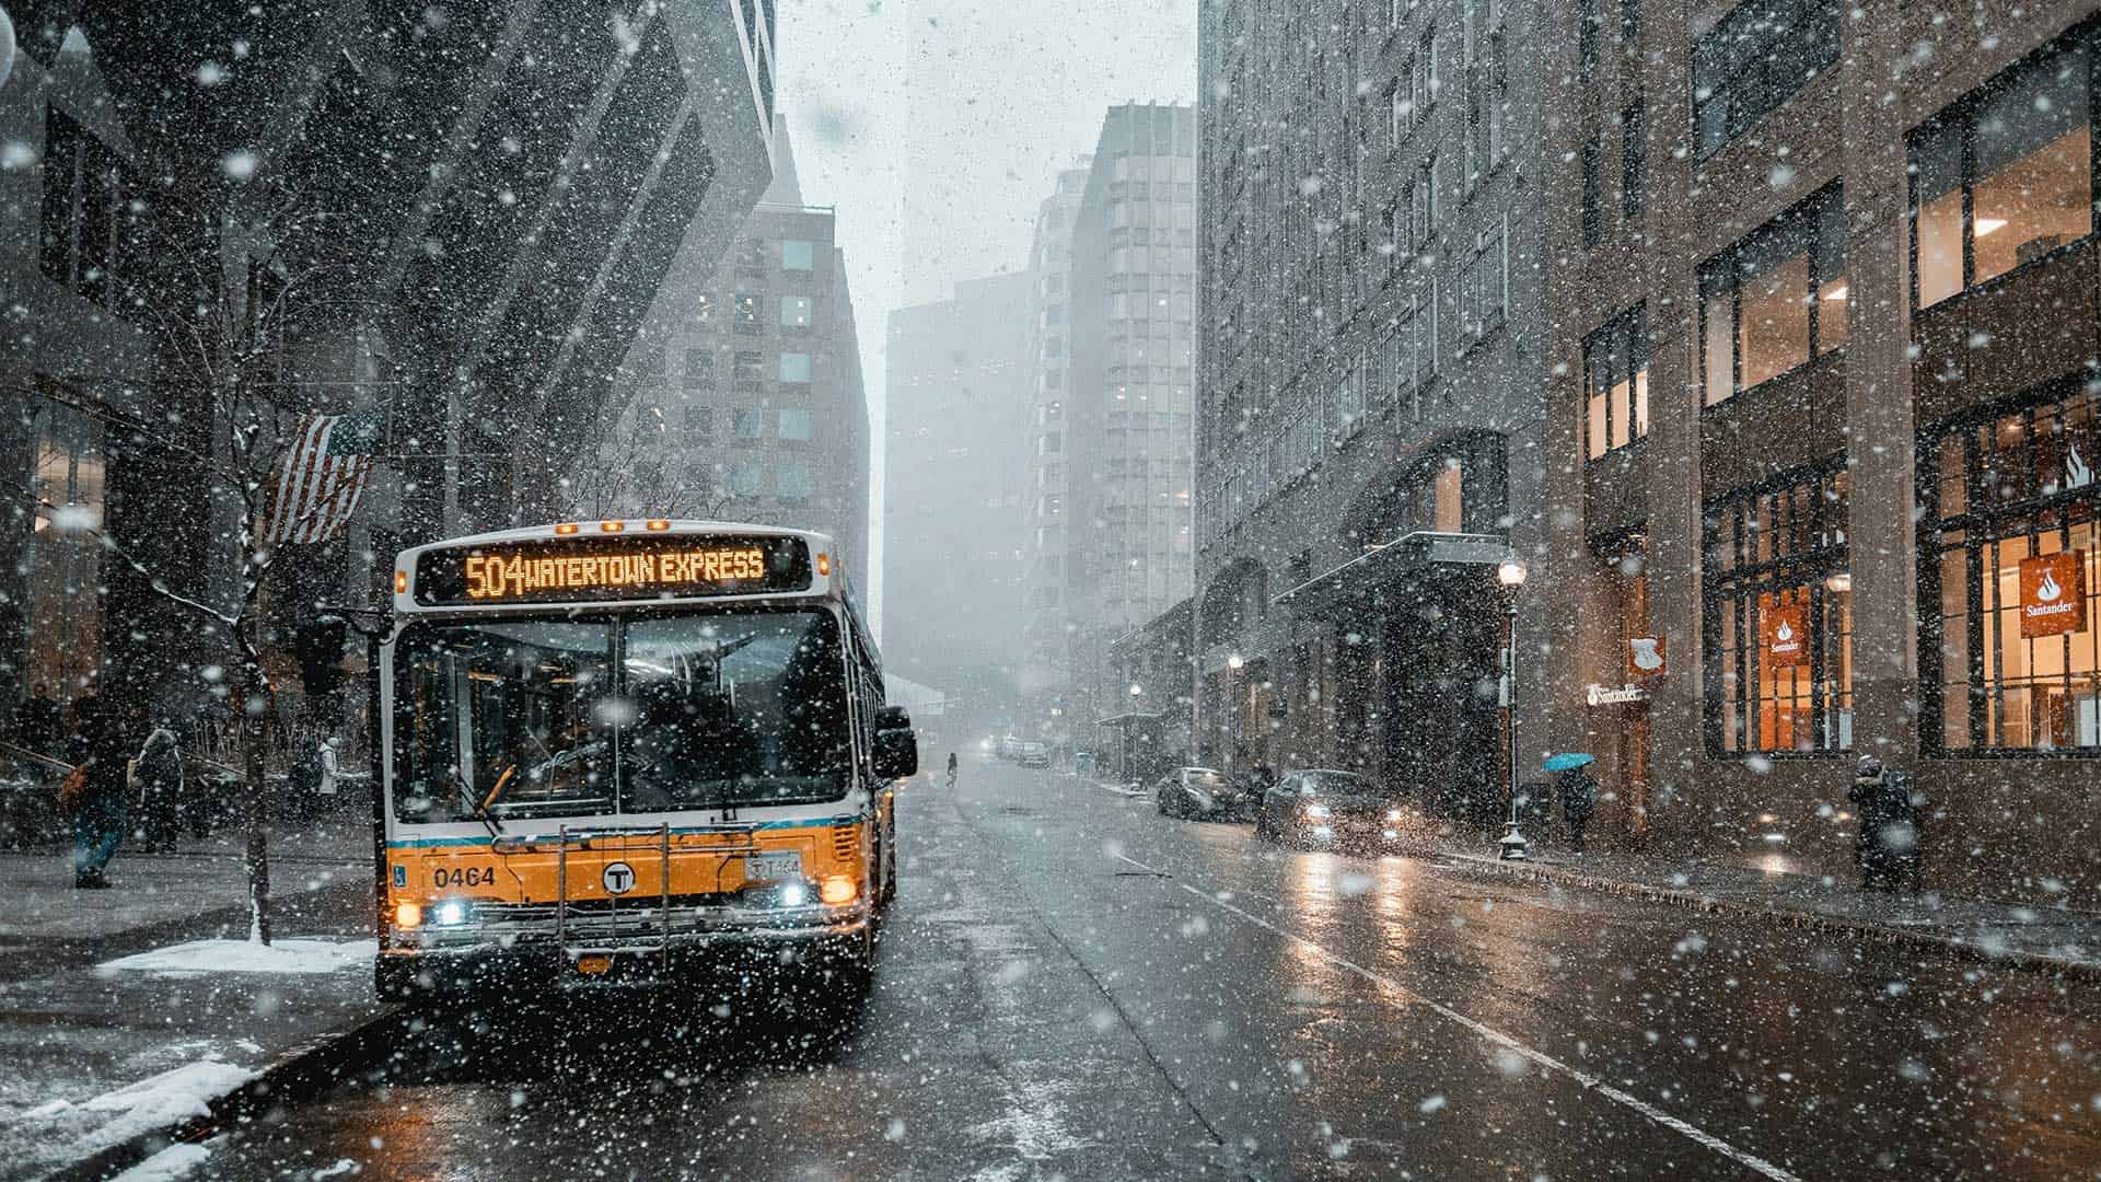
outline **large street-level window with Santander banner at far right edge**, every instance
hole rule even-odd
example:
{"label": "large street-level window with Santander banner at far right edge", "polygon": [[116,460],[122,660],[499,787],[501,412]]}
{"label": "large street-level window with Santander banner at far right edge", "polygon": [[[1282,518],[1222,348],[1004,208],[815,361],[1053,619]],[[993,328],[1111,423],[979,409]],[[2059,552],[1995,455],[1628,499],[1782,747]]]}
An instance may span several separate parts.
{"label": "large street-level window with Santander banner at far right edge", "polygon": [[1920,440],[1929,751],[2101,755],[2097,454],[2101,400],[2076,385]]}

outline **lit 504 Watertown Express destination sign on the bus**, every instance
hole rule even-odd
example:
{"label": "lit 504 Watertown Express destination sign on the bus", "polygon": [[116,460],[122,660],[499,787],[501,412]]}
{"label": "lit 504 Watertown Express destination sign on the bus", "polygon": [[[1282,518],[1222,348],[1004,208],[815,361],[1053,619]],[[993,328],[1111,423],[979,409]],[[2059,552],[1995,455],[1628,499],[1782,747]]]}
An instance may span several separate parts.
{"label": "lit 504 Watertown Express destination sign on the bus", "polygon": [[534,538],[416,559],[424,606],[761,595],[809,583],[803,538],[769,536]]}

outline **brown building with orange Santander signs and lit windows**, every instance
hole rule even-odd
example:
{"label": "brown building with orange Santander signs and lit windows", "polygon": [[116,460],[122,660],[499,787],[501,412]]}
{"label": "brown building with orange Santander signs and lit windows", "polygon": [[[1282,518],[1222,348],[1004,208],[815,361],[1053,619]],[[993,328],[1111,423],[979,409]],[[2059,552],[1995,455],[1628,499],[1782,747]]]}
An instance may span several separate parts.
{"label": "brown building with orange Santander signs and lit windows", "polygon": [[1874,755],[1929,888],[2101,904],[2088,13],[1548,6],[1534,635],[1595,829],[1849,875]]}

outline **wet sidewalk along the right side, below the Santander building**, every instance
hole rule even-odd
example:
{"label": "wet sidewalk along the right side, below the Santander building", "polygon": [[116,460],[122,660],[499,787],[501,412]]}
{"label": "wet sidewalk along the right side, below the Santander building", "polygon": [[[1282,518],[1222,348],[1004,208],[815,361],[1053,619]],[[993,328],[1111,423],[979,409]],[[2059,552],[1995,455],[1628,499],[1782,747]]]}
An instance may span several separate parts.
{"label": "wet sidewalk along the right side, below the Santander building", "polygon": [[1605,890],[1700,911],[1754,913],[1805,928],[1847,930],[1929,944],[1985,961],[2101,978],[2101,915],[1975,898],[1885,894],[1819,875],[1756,871],[1721,862],[1664,862],[1628,854],[1532,848],[1527,862],[1492,850],[1435,841],[1462,867],[1555,885]]}

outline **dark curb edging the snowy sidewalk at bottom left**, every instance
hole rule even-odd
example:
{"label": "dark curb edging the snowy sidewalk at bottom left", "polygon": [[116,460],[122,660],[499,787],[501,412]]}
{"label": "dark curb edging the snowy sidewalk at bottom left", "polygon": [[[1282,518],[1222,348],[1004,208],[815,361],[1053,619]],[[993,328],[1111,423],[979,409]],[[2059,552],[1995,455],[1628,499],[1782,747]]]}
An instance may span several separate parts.
{"label": "dark curb edging the snowy sidewalk at bottom left", "polygon": [[103,1182],[155,1153],[195,1144],[244,1125],[279,1104],[298,1104],[382,1062],[401,1045],[408,1014],[389,1007],[345,1022],[277,1054],[254,1079],[210,1102],[210,1113],[143,1132],[46,1174],[40,1182]]}

